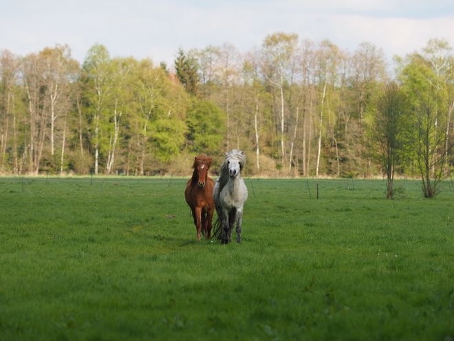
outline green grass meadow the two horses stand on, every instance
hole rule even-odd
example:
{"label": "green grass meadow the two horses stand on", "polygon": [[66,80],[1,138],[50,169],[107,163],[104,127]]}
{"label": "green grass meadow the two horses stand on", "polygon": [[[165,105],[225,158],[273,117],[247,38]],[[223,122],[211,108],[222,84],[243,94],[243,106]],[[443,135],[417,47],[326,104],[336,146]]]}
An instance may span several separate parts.
{"label": "green grass meadow the two horses stand on", "polygon": [[0,178],[0,340],[454,340],[450,183],[246,179],[221,245],[186,180]]}

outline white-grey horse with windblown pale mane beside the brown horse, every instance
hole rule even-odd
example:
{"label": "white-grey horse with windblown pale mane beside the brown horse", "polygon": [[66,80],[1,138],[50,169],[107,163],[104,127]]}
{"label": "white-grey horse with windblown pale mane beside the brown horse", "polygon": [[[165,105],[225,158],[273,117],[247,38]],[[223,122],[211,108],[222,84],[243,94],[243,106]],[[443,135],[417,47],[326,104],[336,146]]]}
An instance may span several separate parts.
{"label": "white-grey horse with windblown pale mane beside the brown horse", "polygon": [[241,170],[246,164],[246,155],[238,149],[226,152],[224,163],[219,168],[213,200],[215,202],[217,220],[215,234],[222,244],[232,242],[232,231],[237,223],[237,243],[241,243],[241,220],[243,205],[248,198],[248,188],[241,178]]}

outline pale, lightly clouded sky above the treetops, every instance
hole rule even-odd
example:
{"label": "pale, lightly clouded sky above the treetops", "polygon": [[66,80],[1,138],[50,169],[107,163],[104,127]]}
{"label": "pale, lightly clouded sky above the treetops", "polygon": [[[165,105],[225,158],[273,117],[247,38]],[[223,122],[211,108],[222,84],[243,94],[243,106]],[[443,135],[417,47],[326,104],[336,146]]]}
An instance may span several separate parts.
{"label": "pale, lightly clouded sky above the treetops", "polygon": [[67,44],[83,63],[94,44],[112,57],[173,65],[177,50],[231,43],[244,53],[268,34],[329,39],[354,52],[373,43],[391,61],[445,39],[454,48],[453,0],[1,0],[0,52]]}

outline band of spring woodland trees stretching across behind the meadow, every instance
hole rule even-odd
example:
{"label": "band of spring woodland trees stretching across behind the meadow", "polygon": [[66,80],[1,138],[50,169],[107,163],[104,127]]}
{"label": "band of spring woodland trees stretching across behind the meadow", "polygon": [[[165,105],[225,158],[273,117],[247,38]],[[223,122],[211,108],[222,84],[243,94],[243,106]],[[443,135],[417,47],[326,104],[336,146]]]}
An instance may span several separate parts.
{"label": "band of spring woodland trees stretching across behind the meadow", "polygon": [[441,179],[454,159],[454,55],[443,39],[389,62],[373,43],[269,34],[175,52],[173,65],[68,45],[0,50],[1,174],[188,174],[242,149],[248,176]]}

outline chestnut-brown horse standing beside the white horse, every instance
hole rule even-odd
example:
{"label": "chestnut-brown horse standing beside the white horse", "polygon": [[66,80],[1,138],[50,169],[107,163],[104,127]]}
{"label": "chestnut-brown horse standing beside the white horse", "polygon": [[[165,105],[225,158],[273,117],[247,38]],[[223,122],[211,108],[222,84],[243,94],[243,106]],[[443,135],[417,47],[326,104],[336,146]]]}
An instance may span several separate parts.
{"label": "chestnut-brown horse standing beside the white horse", "polygon": [[215,211],[213,202],[213,188],[215,182],[208,176],[212,158],[199,155],[195,156],[193,164],[193,177],[188,180],[184,197],[186,203],[193,212],[194,224],[197,229],[197,240],[200,240],[200,232],[206,239],[211,238],[211,221]]}

